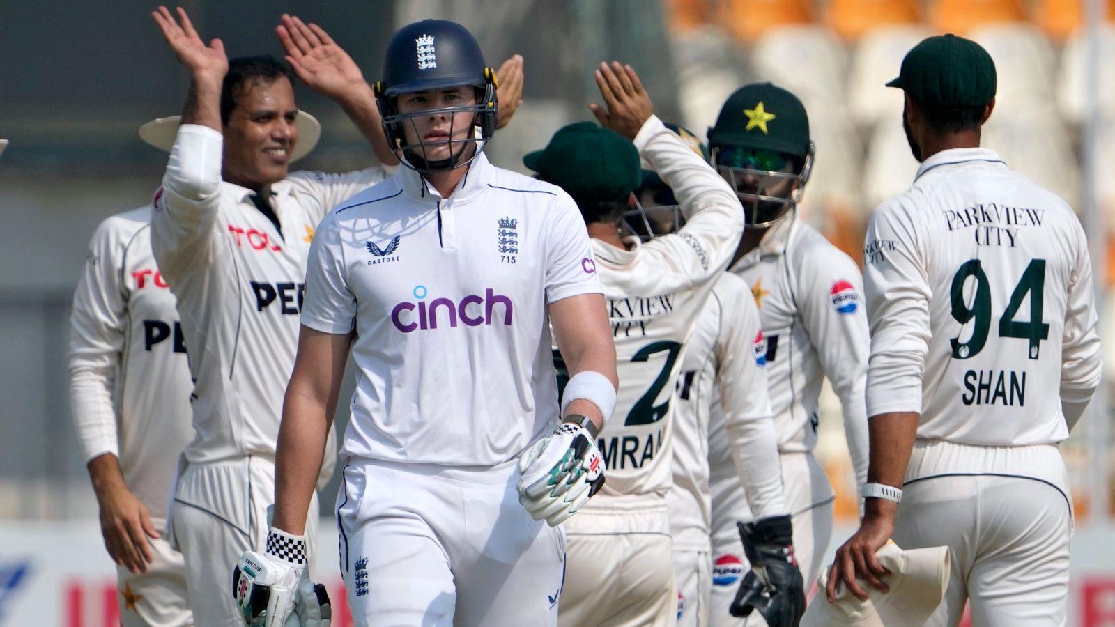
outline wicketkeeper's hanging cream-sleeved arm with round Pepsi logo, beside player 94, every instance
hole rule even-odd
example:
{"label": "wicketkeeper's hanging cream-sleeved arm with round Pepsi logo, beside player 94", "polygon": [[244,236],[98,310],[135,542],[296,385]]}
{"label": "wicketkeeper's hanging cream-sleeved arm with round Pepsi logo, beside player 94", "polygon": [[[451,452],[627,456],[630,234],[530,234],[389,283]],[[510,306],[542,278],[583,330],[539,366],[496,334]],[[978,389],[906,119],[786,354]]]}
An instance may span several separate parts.
{"label": "wicketkeeper's hanging cream-sleeved arm with round Pepsi logo, beside player 94", "polygon": [[[832,383],[844,414],[844,436],[856,484],[867,480],[867,356],[871,337],[862,301],[863,279],[846,254],[834,247],[808,251],[798,267],[804,289],[797,290],[802,322],[816,347],[821,367]],[[849,287],[850,286],[850,287]],[[833,293],[833,290],[837,290]],[[841,300],[834,302],[834,297]]]}

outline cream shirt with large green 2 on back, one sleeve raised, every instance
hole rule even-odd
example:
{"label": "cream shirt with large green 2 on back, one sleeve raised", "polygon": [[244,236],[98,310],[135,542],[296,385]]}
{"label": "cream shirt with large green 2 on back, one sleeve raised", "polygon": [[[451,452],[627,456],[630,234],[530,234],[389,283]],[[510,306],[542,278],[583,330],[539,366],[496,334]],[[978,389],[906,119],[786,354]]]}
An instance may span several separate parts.
{"label": "cream shirt with large green 2 on back, one sleeve raised", "polygon": [[665,498],[669,490],[671,406],[681,349],[744,225],[739,200],[728,184],[658,117],[643,124],[634,144],[689,219],[678,233],[633,250],[592,240],[620,387],[615,413],[597,443],[607,480],[582,511],[607,505],[611,495]]}

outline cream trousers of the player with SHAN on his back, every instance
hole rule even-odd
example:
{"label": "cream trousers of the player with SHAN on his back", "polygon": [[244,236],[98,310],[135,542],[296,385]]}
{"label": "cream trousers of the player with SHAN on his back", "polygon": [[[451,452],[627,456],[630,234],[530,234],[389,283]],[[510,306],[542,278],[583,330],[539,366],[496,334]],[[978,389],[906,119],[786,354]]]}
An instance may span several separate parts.
{"label": "cream trousers of the player with SHAN on his back", "polygon": [[956,626],[964,601],[980,627],[1064,626],[1073,512],[1055,445],[973,446],[919,440],[894,541],[948,546],[949,588],[930,627]]}

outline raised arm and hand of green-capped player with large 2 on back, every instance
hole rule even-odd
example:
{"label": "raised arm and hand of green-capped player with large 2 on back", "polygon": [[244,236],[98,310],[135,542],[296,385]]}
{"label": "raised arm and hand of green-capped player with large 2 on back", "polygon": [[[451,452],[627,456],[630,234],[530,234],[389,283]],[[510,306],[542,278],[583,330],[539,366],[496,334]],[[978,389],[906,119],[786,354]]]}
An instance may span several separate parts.
{"label": "raised arm and hand of green-capped player with large 2 on back", "polygon": [[668,262],[692,282],[724,270],[739,243],[744,213],[728,183],[653,115],[631,66],[613,61],[595,70],[604,106],[590,105],[607,126],[634,142],[639,154],[673,191],[687,216],[679,238],[665,238],[673,253]]}

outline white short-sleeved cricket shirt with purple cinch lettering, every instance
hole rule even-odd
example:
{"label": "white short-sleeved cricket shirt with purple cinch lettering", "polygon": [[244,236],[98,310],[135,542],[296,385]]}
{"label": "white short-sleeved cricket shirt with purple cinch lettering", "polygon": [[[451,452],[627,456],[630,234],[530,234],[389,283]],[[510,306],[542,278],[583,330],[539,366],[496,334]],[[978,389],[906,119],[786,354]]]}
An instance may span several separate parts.
{"label": "white short-sleeved cricket shirt with purple cinch lettering", "polygon": [[356,331],[346,455],[449,466],[514,460],[558,425],[547,303],[600,293],[560,189],[481,153],[447,199],[414,171],[321,222],[302,324]]}

